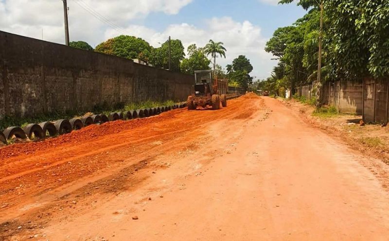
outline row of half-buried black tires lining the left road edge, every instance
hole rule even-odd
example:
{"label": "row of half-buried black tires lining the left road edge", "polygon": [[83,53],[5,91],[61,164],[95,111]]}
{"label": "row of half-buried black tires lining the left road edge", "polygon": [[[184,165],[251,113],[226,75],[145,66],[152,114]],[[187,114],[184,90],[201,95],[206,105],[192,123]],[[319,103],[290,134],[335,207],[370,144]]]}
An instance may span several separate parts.
{"label": "row of half-buried black tires lining the left road edge", "polygon": [[108,116],[105,114],[95,114],[87,117],[72,118],[70,120],[57,120],[55,122],[42,122],[39,124],[28,124],[23,129],[20,127],[8,127],[0,131],[0,142],[7,144],[8,140],[14,137],[19,139],[44,139],[47,136],[53,137],[70,133],[72,130],[80,130],[92,124],[103,124],[109,121],[130,120],[136,118],[149,117],[161,112],[170,111],[177,108],[185,108],[186,103],[181,102],[172,106],[162,106],[149,109],[132,110],[124,112],[112,112]]}

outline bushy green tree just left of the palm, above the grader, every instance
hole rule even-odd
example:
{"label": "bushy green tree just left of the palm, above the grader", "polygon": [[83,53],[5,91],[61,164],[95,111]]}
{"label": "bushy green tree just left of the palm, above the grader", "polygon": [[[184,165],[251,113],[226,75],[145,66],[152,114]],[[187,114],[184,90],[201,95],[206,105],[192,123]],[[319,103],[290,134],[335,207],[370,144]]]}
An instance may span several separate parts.
{"label": "bushy green tree just left of the palm, above the grader", "polygon": [[211,61],[205,56],[204,50],[195,44],[188,46],[189,58],[182,60],[180,69],[185,74],[195,74],[196,70],[209,70]]}

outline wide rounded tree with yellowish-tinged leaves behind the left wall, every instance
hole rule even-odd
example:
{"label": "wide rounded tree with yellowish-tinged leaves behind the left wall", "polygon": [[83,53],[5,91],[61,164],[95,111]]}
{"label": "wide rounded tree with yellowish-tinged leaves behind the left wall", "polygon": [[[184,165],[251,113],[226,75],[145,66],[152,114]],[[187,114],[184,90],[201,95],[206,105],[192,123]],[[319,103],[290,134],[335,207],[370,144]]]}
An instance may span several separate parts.
{"label": "wide rounded tree with yellowish-tinged leaves behind the left wall", "polygon": [[100,43],[95,51],[128,59],[147,60],[152,49],[153,47],[148,42],[139,37],[121,35]]}

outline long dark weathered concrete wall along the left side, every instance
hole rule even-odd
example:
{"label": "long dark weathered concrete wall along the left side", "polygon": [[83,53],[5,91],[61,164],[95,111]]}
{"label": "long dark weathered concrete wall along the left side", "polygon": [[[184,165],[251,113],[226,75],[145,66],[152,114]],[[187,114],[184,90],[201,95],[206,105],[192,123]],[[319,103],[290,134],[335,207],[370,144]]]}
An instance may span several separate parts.
{"label": "long dark weathered concrete wall along the left side", "polygon": [[0,119],[186,100],[194,76],[0,31]]}

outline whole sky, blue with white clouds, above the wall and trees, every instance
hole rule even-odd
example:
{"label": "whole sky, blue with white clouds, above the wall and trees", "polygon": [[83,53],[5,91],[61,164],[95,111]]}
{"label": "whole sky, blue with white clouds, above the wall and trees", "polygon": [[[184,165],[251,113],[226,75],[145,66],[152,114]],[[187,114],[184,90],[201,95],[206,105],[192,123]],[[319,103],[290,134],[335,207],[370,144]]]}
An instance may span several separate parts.
{"label": "whole sky, blue with white clouds, above the wall and trees", "polygon": [[[223,67],[246,55],[254,67],[251,75],[266,78],[276,65],[264,51],[266,41],[278,27],[305,14],[294,3],[277,5],[277,1],[68,0],[70,37],[96,46],[127,34],[157,47],[171,36],[181,39],[185,48],[193,43],[201,47],[213,39],[227,48],[227,58],[217,59]],[[62,11],[60,0],[0,0],[0,30],[64,43]]]}

